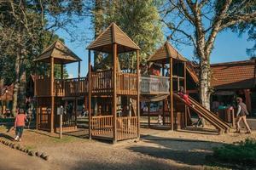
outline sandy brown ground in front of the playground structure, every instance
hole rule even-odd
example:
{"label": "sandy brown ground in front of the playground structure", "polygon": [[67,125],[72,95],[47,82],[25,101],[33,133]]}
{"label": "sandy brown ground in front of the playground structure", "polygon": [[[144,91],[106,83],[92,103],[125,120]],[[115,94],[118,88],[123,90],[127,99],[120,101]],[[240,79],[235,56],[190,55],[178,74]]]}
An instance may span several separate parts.
{"label": "sandy brown ground in front of the playground structure", "polygon": [[[0,132],[2,139],[14,136],[4,127]],[[172,132],[142,128],[138,142],[108,144],[89,140],[86,133],[79,129],[60,140],[55,133],[25,130],[20,144],[44,151],[50,156],[49,161],[0,144],[0,169],[204,169],[210,166],[205,156],[212,154],[212,147],[248,137],[256,139],[256,132],[216,135],[190,129]]]}

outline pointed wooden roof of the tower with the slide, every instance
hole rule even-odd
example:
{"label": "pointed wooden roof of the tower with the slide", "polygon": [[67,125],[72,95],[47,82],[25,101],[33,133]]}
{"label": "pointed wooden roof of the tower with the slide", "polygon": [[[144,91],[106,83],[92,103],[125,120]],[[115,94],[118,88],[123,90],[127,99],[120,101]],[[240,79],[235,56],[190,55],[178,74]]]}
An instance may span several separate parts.
{"label": "pointed wooden roof of the tower with the slide", "polygon": [[169,63],[169,58],[187,61],[182,54],[177,52],[177,49],[173,48],[172,45],[166,41],[162,47],[157,49],[156,52],[149,57],[148,62],[167,64]]}

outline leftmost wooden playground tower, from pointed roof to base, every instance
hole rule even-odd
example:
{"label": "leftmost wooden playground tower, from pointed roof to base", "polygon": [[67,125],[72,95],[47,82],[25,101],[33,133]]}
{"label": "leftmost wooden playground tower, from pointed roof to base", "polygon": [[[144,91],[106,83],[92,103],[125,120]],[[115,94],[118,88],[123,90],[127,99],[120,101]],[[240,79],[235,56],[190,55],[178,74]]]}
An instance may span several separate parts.
{"label": "leftmost wooden playground tower, from pointed roof to base", "polygon": [[[73,97],[73,105],[69,107],[70,111],[67,111],[67,114],[63,116],[63,130],[74,130],[76,128],[76,115],[74,114],[76,98],[83,95],[83,93],[78,94],[77,92],[87,84],[84,79],[80,78],[81,59],[62,42],[56,41],[34,61],[36,65],[42,66],[42,62],[49,64],[49,71],[38,71],[35,75],[34,95],[37,99],[37,128],[49,132],[58,131],[57,107],[67,105],[64,97]],[[73,62],[79,63],[79,77],[65,80],[63,65]],[[59,78],[55,77],[55,65],[61,65],[61,77]],[[74,90],[74,88],[76,89]]]}

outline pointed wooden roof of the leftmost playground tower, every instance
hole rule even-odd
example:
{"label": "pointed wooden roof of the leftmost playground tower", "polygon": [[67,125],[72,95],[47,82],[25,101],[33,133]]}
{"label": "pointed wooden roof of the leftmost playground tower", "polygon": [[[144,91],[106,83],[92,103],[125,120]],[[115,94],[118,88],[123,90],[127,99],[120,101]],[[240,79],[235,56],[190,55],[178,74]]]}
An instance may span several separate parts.
{"label": "pointed wooden roof of the leftmost playground tower", "polygon": [[49,63],[51,57],[55,58],[55,64],[67,64],[82,60],[59,40],[53,42],[48,48],[45,48],[43,53],[39,54],[38,58],[34,59],[34,61]]}

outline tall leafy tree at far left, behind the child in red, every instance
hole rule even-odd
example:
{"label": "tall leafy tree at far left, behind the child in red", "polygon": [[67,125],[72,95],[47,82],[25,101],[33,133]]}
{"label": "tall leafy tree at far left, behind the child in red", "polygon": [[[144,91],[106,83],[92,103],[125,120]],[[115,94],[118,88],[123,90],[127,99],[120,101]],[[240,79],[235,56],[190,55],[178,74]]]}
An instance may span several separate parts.
{"label": "tall leafy tree at far left, behind the child in red", "polygon": [[0,2],[1,56],[5,59],[11,56],[15,64],[13,115],[17,101],[20,106],[25,104],[26,75],[34,71],[32,60],[44,49],[44,38],[50,33],[51,42],[58,29],[67,31],[75,38],[75,22],[89,15],[89,3],[83,0]]}

